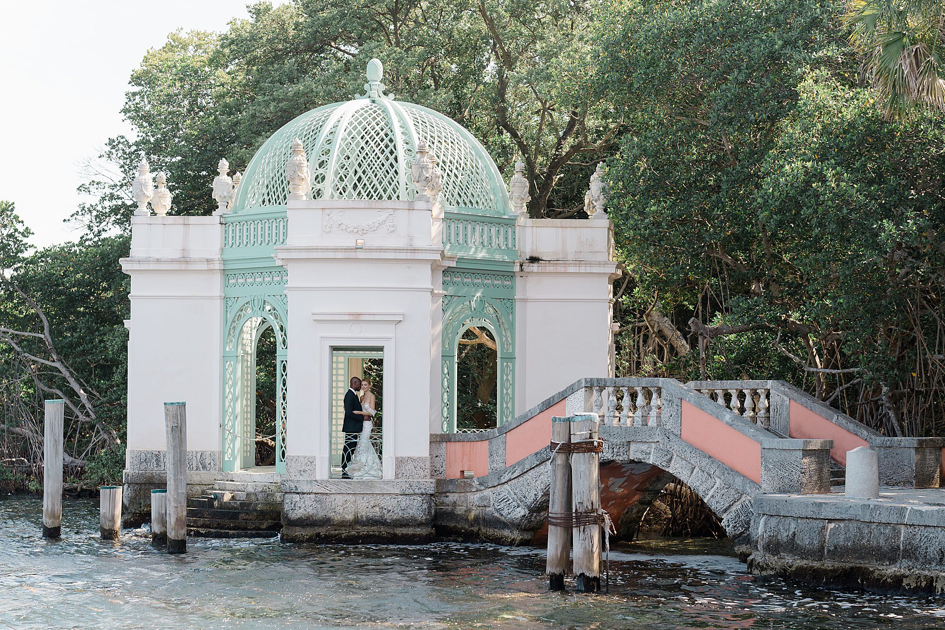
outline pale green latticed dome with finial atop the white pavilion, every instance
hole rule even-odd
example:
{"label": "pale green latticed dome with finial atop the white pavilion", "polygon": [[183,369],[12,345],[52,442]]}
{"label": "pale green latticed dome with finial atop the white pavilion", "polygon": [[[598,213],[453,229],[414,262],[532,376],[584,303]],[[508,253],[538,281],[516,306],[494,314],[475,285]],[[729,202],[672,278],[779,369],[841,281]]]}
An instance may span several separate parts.
{"label": "pale green latticed dome with finial atop the white pavilion", "polygon": [[505,181],[483,145],[438,111],[384,94],[382,74],[381,62],[370,60],[366,94],[303,113],[272,134],[249,161],[232,212],[284,208],[285,162],[299,138],[308,156],[310,198],[412,200],[417,190],[410,165],[423,140],[439,160],[444,208],[508,214]]}

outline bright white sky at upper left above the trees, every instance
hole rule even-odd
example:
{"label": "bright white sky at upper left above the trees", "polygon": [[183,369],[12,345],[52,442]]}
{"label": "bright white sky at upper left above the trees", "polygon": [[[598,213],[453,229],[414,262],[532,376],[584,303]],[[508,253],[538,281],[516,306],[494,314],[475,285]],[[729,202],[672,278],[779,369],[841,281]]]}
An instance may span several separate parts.
{"label": "bright white sky at upper left above the trees", "polygon": [[[224,30],[249,0],[30,0],[0,19],[0,199],[43,247],[74,240],[81,162],[128,134],[128,78],[167,33]],[[281,4],[275,2],[274,4]]]}

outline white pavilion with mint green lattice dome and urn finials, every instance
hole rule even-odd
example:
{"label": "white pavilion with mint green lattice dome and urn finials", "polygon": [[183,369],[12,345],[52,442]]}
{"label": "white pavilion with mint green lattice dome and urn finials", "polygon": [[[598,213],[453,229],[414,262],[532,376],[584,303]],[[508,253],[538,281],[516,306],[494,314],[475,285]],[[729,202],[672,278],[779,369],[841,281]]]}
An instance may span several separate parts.
{"label": "white pavilion with mint green lattice dome and urn finials", "polygon": [[[206,216],[168,215],[163,176],[153,191],[142,164],[122,261],[127,522],[163,486],[165,401],[186,402],[189,493],[257,475],[281,485],[286,522],[316,527],[319,510],[343,509],[328,498],[357,501],[368,487],[337,478],[352,376],[381,375],[383,474],[370,487],[402,498],[433,492],[432,434],[501,427],[577,379],[613,376],[619,271],[599,173],[590,219],[529,218],[521,167],[507,186],[469,131],[385,94],[382,72],[371,60],[364,94],[302,113],[245,173],[231,178],[222,161]],[[457,409],[458,349],[473,327],[495,346],[488,426]],[[267,466],[264,334],[276,383]]]}

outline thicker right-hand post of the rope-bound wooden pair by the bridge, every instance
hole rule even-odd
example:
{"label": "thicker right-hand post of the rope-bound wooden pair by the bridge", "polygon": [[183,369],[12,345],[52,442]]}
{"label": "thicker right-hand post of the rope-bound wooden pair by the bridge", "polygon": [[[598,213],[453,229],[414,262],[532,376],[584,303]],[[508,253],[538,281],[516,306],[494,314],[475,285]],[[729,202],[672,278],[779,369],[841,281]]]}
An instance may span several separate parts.
{"label": "thicker right-hand post of the rope-bound wooden pair by the bridge", "polygon": [[[595,593],[600,590],[600,453],[593,449],[597,440],[597,416],[571,417],[571,483],[574,494],[575,589]],[[584,442],[576,447],[576,442]]]}

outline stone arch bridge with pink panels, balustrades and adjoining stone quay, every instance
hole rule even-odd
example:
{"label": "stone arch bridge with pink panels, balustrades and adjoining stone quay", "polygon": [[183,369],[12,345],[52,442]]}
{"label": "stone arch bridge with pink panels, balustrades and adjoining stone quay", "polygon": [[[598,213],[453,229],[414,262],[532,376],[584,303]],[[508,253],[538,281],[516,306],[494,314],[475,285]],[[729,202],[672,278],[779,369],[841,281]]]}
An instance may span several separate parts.
{"label": "stone arch bridge with pink panels, balustrades and adjoining stone quay", "polygon": [[[945,545],[945,440],[885,437],[780,381],[583,379],[498,429],[435,435],[438,532],[540,541],[551,417],[588,412],[604,441],[602,503],[624,534],[673,475],[721,519],[753,572],[945,589],[942,560],[928,551]],[[879,499],[837,487],[858,446],[878,453]]]}

